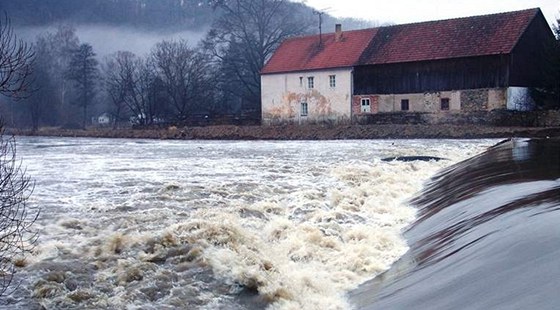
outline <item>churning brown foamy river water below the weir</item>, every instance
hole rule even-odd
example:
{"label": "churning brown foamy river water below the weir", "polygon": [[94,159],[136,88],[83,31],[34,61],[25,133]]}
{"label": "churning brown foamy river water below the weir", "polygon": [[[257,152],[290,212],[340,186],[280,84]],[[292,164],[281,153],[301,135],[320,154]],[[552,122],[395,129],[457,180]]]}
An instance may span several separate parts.
{"label": "churning brown foamy river water below the weir", "polygon": [[21,137],[40,240],[0,308],[351,308],[407,252],[407,199],[496,142]]}

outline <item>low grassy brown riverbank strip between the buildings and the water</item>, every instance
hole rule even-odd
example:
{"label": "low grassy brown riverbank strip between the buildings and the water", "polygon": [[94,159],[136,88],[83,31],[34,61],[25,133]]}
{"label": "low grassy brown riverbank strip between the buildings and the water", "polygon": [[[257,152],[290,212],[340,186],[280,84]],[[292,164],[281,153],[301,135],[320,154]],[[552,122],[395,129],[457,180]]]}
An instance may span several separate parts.
{"label": "low grassy brown riverbank strip between the buildings and the water", "polygon": [[10,130],[24,136],[143,138],[182,140],[341,140],[341,139],[480,139],[559,137],[560,127],[496,127],[476,125],[279,125],[206,126],[158,129],[41,128]]}

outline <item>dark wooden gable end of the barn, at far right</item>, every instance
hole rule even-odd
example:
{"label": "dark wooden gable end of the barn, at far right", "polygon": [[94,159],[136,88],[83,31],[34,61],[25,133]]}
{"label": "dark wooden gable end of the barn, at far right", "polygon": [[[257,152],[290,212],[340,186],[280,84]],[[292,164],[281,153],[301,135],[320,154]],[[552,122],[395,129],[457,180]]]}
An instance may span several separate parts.
{"label": "dark wooden gable end of the barn, at far right", "polygon": [[510,86],[537,87],[543,85],[543,72],[546,72],[550,45],[554,35],[542,16],[533,19],[511,57]]}

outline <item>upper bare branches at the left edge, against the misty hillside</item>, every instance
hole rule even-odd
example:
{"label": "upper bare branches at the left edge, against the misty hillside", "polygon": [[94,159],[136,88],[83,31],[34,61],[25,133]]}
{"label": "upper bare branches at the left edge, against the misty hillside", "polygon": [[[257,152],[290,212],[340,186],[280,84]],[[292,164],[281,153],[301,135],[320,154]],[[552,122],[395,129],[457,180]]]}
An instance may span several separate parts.
{"label": "upper bare branches at the left edge, against the misty hillside", "polygon": [[0,18],[0,94],[24,97],[29,94],[33,48],[19,40],[6,14]]}

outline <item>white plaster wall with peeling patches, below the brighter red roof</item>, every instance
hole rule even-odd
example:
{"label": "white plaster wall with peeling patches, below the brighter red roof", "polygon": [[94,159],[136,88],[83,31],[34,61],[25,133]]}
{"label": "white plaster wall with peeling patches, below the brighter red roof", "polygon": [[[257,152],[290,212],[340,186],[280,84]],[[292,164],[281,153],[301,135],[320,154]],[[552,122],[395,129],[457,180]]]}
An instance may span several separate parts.
{"label": "white plaster wall with peeling patches, below the brighter red roof", "polygon": [[[336,87],[329,76],[336,76]],[[314,88],[308,88],[308,77]],[[300,84],[302,78],[302,84]],[[352,70],[332,69],[261,76],[262,117],[272,122],[346,122],[351,118]],[[307,102],[308,115],[301,115],[301,103]]]}

